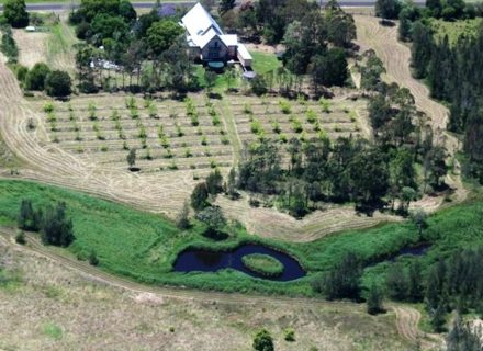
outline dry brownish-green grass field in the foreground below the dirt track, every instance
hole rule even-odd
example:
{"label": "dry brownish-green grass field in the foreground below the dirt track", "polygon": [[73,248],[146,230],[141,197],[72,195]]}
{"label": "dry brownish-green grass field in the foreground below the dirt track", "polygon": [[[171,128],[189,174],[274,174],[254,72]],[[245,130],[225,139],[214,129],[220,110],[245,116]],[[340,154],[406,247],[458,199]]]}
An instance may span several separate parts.
{"label": "dry brownish-green grass field in the foreground below the dirt track", "polygon": [[[2,350],[242,351],[260,328],[271,332],[277,351],[412,350],[397,333],[394,313],[374,318],[363,305],[132,292],[2,240],[0,257]],[[2,284],[2,269],[14,281]],[[295,331],[294,342],[283,339],[285,328]]]}

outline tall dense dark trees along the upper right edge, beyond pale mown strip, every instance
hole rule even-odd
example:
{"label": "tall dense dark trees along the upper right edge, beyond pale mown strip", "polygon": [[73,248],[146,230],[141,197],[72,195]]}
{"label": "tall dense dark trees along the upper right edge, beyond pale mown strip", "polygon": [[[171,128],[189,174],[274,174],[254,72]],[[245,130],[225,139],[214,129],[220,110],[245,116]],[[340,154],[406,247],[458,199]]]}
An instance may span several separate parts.
{"label": "tall dense dark trees along the upper right edge, beyond pale mown strip", "polygon": [[[392,0],[384,0],[394,2]],[[398,3],[398,2],[397,2]],[[448,129],[462,135],[463,173],[483,183],[483,24],[458,33],[439,33],[458,25],[443,21],[483,16],[482,4],[461,0],[429,0],[425,9],[411,4],[398,7],[400,38],[412,41],[412,67],[415,78],[424,79],[431,97],[450,106]],[[437,23],[438,25],[436,26]],[[464,29],[465,26],[463,26]],[[436,33],[435,33],[436,32]],[[448,35],[451,35],[450,36]]]}

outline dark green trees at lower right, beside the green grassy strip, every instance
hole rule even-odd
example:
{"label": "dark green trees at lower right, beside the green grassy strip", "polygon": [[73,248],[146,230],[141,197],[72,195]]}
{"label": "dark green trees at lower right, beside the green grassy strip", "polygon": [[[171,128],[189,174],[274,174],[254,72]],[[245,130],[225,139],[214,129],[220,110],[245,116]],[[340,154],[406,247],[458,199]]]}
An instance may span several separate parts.
{"label": "dark green trees at lower right, beside the green grassy strip", "polygon": [[[348,252],[324,276],[313,281],[313,288],[327,299],[366,299],[371,314],[384,312],[384,297],[406,303],[424,303],[430,324],[438,332],[446,330],[448,314],[453,310],[458,314],[473,312],[483,316],[482,248],[460,249],[427,269],[424,269],[419,259],[409,264],[392,263],[385,272],[383,283],[372,283],[363,297],[361,280],[367,264],[356,253]],[[456,327],[449,333],[451,343],[458,346],[462,342],[452,333],[461,333],[461,337],[464,335],[463,329],[461,320],[457,320]]]}

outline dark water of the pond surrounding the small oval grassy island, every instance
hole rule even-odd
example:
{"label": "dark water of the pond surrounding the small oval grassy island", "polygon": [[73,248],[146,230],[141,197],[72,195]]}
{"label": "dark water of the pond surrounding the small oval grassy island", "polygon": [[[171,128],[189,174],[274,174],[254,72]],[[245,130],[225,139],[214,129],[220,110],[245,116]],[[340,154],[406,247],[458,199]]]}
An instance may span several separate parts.
{"label": "dark water of the pond surrounding the small oval grassy island", "polygon": [[[282,274],[268,278],[247,269],[242,258],[251,253],[263,253],[279,260],[283,264]],[[293,281],[305,276],[303,268],[291,256],[255,244],[242,245],[231,251],[187,249],[178,256],[173,268],[176,272],[216,272],[229,268],[250,276],[279,282]]]}

